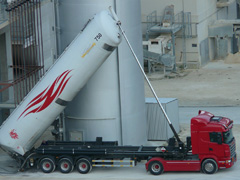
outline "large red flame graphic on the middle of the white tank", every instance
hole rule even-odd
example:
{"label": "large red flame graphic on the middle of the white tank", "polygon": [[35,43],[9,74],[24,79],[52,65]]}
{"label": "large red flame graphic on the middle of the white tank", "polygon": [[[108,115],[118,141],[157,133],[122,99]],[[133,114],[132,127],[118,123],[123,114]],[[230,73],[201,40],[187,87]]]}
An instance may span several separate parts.
{"label": "large red flame graphic on the middle of the white tank", "polygon": [[[28,103],[27,108],[25,109],[25,111],[23,111],[23,113],[19,116],[19,118],[22,117],[23,114],[25,114],[24,115],[24,117],[25,117],[28,114],[41,112],[44,109],[46,109],[54,101],[54,99],[56,99],[57,97],[60,96],[60,94],[64,90],[69,79],[72,77],[72,76],[70,76],[69,78],[67,78],[68,74],[71,71],[72,70],[67,70],[67,71],[63,72],[60,76],[58,76],[55,79],[55,81],[52,83],[52,85],[50,87],[48,86],[43,92],[41,92],[30,103]],[[38,104],[40,104],[38,107],[29,111],[33,106],[36,106]]]}

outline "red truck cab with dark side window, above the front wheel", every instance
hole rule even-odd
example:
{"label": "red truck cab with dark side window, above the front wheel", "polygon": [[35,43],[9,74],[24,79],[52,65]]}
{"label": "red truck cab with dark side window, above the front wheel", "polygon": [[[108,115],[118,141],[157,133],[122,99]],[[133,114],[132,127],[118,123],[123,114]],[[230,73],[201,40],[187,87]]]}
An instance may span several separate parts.
{"label": "red truck cab with dark side window, above the front wheel", "polygon": [[199,111],[191,119],[192,154],[198,155],[201,162],[214,160],[217,169],[232,167],[237,160],[232,127],[233,121],[228,118]]}

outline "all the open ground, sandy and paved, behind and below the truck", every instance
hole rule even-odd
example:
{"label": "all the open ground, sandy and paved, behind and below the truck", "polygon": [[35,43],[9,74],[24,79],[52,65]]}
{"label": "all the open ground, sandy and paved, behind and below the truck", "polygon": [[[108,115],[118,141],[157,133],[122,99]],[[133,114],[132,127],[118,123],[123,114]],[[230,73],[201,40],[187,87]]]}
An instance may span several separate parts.
{"label": "all the open ground, sandy and paved, behind and below the truck", "polygon": [[[186,75],[187,74],[187,75]],[[186,75],[186,76],[182,76]],[[240,64],[227,64],[224,61],[212,62],[200,70],[183,72],[181,76],[162,79],[160,75],[151,76],[152,84],[159,97],[179,99],[180,136],[190,134],[189,122],[198,110],[206,110],[215,115],[234,120],[234,135],[237,141],[238,159],[240,154]],[[154,80],[155,79],[155,80]],[[148,88],[146,96],[152,97]],[[15,171],[15,173],[14,173]],[[220,170],[214,175],[200,172],[165,172],[160,176],[145,171],[144,163],[134,168],[95,168],[82,175],[74,171],[70,174],[54,172],[44,174],[37,170],[16,173],[16,163],[3,152],[0,153],[0,179],[158,179],[158,180],[239,180],[240,161],[232,168]]]}

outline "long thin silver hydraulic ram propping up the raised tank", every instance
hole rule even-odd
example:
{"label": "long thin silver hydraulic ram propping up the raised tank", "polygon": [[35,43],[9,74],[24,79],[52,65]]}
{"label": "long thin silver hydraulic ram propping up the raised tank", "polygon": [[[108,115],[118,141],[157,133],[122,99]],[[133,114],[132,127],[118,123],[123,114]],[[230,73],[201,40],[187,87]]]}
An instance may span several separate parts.
{"label": "long thin silver hydraulic ram propping up the raised tank", "polygon": [[132,52],[132,54],[133,54],[133,56],[134,56],[136,62],[137,62],[137,64],[138,64],[138,66],[139,66],[139,68],[140,68],[140,70],[141,70],[141,72],[142,72],[144,78],[146,79],[146,81],[147,81],[147,83],[148,83],[148,86],[150,87],[150,89],[151,89],[151,91],[152,91],[152,93],[153,93],[155,99],[157,100],[157,103],[158,103],[159,107],[161,108],[161,110],[162,110],[162,112],[163,112],[165,118],[167,119],[168,124],[169,124],[169,126],[170,126],[170,128],[171,128],[171,130],[172,130],[172,132],[173,132],[173,134],[174,134],[174,136],[176,137],[176,139],[177,139],[178,142],[181,142],[181,140],[180,140],[180,138],[179,138],[179,136],[178,136],[178,134],[177,134],[175,128],[174,128],[173,125],[172,125],[172,122],[170,121],[170,119],[169,119],[169,117],[168,117],[166,111],[164,110],[164,108],[163,108],[161,102],[159,101],[156,92],[154,91],[154,89],[153,89],[153,87],[152,87],[152,85],[151,85],[151,83],[150,83],[150,81],[149,81],[149,79],[148,79],[146,73],[144,72],[144,70],[143,70],[143,68],[142,68],[142,66],[141,66],[141,64],[140,64],[140,62],[139,62],[139,60],[138,60],[138,57],[136,56],[136,54],[135,54],[135,52],[134,52],[134,50],[133,50],[133,48],[132,48],[132,46],[131,46],[131,44],[130,44],[130,42],[129,42],[129,40],[128,40],[128,38],[127,38],[127,36],[126,36],[126,34],[125,34],[123,28],[122,28],[122,26],[121,26],[121,21],[118,19],[116,13],[114,12],[114,10],[113,10],[113,8],[112,8],[111,6],[109,7],[109,10],[110,10],[110,12],[112,13],[113,18],[117,21],[117,25],[119,26],[119,29],[120,29],[120,31],[121,31],[121,33],[122,33],[124,39],[126,40],[126,42],[127,42],[127,44],[128,44],[128,46],[129,46],[129,48],[130,48],[130,50],[131,50],[131,52]]}

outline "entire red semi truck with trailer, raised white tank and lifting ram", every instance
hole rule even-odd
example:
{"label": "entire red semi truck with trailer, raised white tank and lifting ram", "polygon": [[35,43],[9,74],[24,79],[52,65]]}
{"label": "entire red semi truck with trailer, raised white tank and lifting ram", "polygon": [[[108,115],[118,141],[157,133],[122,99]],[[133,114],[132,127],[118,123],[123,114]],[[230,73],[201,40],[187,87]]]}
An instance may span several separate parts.
{"label": "entire red semi truck with trailer, raised white tank and lifting ram", "polygon": [[[116,141],[46,141],[33,148],[43,132],[80,91],[124,37],[162,109],[174,137],[167,146],[119,146]],[[86,174],[93,167],[133,167],[146,161],[153,175],[163,171],[203,171],[213,174],[237,160],[233,121],[206,111],[191,119],[191,137],[183,143],[164,111],[137,56],[110,8],[86,25],[51,69],[0,127],[0,145],[15,158],[19,170],[32,167],[44,173],[76,168]]]}

